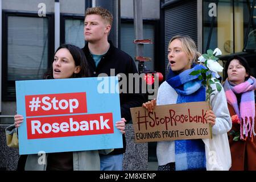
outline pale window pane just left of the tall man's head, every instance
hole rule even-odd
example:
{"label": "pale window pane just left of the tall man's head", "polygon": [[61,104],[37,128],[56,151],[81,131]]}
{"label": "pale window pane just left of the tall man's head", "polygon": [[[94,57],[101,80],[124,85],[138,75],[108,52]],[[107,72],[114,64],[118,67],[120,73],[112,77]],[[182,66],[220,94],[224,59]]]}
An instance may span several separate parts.
{"label": "pale window pane just left of the tall man's head", "polygon": [[65,43],[84,47],[84,19],[65,19]]}

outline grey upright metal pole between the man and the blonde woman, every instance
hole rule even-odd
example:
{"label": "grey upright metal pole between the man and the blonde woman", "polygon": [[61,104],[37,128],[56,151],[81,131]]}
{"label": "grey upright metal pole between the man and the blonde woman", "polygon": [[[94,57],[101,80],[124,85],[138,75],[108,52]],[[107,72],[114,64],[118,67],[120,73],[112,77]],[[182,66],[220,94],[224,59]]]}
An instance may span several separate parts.
{"label": "grey upright metal pole between the man and the blonde woman", "polygon": [[[135,39],[143,39],[143,18],[142,18],[142,0],[133,0],[134,10],[134,32]],[[135,55],[143,56],[143,44],[135,44]],[[139,61],[138,71],[141,73],[144,70],[144,62]]]}

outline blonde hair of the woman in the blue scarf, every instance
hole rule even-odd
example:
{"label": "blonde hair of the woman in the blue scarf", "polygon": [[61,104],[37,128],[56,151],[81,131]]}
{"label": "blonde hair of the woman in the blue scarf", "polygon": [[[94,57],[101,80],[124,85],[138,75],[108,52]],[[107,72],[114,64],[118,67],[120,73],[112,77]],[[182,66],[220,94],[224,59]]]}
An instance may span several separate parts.
{"label": "blonde hair of the woman in the blue scarf", "polygon": [[[197,51],[196,43],[190,38],[188,35],[175,35],[171,38],[168,47],[171,42],[175,39],[180,40],[181,47],[185,53],[191,58],[191,65],[193,63],[197,64],[197,59],[201,56],[200,52]],[[170,63],[168,63],[167,68],[170,67]]]}

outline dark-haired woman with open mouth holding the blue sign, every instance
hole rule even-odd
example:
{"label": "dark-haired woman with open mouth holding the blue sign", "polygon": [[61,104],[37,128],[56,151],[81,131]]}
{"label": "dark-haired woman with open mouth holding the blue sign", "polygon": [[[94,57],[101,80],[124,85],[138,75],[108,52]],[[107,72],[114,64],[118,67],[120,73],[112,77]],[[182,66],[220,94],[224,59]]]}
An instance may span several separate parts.
{"label": "dark-haired woman with open mouth holding the blue sign", "polygon": [[[71,44],[60,46],[55,52],[51,68],[45,74],[45,79],[88,77],[89,70],[84,53],[79,47]],[[7,145],[18,147],[18,130],[22,125],[23,116],[16,114],[14,124],[6,128]],[[116,122],[117,129],[125,133],[125,119]],[[78,171],[100,170],[99,154],[108,154],[112,150],[92,150],[77,152],[56,152],[45,154],[45,162],[39,164],[38,154],[21,155],[18,170],[36,171]],[[44,154],[43,154],[44,155]]]}

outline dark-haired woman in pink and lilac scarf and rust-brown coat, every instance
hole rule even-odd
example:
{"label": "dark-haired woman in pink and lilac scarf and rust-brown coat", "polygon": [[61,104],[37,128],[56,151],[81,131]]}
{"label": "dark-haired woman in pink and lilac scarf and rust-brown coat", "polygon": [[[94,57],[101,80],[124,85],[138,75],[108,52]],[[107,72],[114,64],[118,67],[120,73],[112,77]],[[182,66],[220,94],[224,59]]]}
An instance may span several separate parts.
{"label": "dark-haired woman in pink and lilac scarf and rust-brown coat", "polygon": [[224,83],[232,130],[229,145],[232,155],[230,170],[256,170],[255,94],[256,80],[250,76],[247,61],[240,56],[226,63],[228,78]]}

